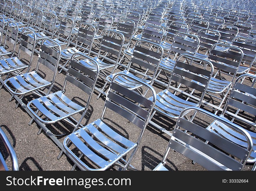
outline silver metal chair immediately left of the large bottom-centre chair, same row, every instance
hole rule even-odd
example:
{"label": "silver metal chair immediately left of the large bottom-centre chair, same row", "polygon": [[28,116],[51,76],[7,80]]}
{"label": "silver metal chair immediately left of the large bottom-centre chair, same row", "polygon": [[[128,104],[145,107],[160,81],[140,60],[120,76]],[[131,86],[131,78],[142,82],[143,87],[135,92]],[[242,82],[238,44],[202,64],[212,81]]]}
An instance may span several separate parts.
{"label": "silver metal chair immediately left of the large bottom-centre chair, same row", "polygon": [[[94,64],[96,71],[94,72],[91,69],[88,69],[75,60],[77,55]],[[56,136],[60,135],[54,135],[51,133],[46,125],[64,121],[73,126],[74,129],[72,133],[76,131],[78,127],[81,126],[80,124],[88,111],[98,76],[99,65],[95,60],[83,53],[74,53],[69,63],[63,89],[58,92],[47,94],[38,99],[33,99],[27,104],[28,113],[32,117],[29,125],[33,120],[35,120],[35,122],[40,126],[38,135],[42,130],[44,130],[47,135],[49,135],[50,138],[54,140],[61,149],[63,149],[62,143],[56,138]],[[86,96],[83,99],[87,100],[86,106],[81,106],[81,104],[75,103],[72,99],[66,96],[69,91],[74,91],[75,86],[85,93]],[[81,114],[81,117],[77,120],[74,118],[74,115],[79,113]],[[58,159],[62,154],[63,151],[59,154]]]}

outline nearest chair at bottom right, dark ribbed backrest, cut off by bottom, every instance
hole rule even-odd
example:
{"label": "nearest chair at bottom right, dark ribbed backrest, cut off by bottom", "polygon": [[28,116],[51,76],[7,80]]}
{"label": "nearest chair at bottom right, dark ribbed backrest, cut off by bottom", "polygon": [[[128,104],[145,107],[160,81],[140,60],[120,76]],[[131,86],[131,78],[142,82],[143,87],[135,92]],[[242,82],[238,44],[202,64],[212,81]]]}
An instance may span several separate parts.
{"label": "nearest chair at bottom right, dark ribbed backrest, cut off by bottom", "polygon": [[[214,120],[216,123],[227,126],[231,131],[238,132],[244,140],[243,146],[237,145],[236,142],[229,141],[214,132],[207,131],[205,122],[200,120],[203,118],[199,114],[207,120]],[[203,124],[189,119],[189,115],[198,116]],[[211,142],[211,145],[202,140]],[[253,141],[248,132],[227,119],[218,117],[201,108],[189,107],[180,113],[163,159],[154,168],[154,171],[168,170],[166,160],[171,149],[195,161],[207,170],[243,170],[252,152]]]}

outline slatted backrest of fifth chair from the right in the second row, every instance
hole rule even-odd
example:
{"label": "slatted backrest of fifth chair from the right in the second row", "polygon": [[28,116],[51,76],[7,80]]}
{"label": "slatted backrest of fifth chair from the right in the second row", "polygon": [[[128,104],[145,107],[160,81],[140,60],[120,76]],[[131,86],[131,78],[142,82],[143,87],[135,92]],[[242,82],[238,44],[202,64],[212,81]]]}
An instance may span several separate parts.
{"label": "slatted backrest of fifth chair from the right in the second row", "polygon": [[81,23],[77,34],[75,47],[81,52],[88,52],[90,55],[96,28],[94,25]]}

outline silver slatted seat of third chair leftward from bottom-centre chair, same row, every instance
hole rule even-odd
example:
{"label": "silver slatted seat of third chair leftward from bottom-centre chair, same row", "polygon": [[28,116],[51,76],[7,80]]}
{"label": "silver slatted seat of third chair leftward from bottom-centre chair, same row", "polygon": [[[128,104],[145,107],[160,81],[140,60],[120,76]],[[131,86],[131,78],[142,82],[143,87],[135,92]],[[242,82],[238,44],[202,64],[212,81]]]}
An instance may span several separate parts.
{"label": "silver slatted seat of third chair leftward from bottom-centre chair, same row", "polygon": [[[7,82],[13,87],[10,88]],[[35,71],[8,78],[4,83],[6,88],[15,95],[23,95],[51,85],[51,82],[41,78]]]}

